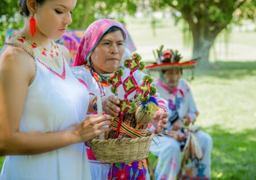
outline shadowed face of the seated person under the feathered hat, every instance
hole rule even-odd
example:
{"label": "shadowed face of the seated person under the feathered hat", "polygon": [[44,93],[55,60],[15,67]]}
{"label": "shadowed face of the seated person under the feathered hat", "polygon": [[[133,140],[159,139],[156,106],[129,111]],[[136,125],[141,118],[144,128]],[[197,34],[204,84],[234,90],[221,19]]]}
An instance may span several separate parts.
{"label": "shadowed face of the seated person under the feathered hat", "polygon": [[179,83],[180,76],[181,76],[181,70],[178,68],[167,70],[163,74],[164,83],[169,88],[175,88],[175,87],[177,87],[177,84]]}

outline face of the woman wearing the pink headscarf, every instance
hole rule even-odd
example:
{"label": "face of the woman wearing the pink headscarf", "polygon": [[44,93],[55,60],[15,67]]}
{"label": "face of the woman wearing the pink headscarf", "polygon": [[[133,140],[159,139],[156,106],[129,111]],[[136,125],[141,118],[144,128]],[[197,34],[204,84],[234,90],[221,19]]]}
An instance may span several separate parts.
{"label": "face of the woman wearing the pink headscarf", "polygon": [[121,65],[124,53],[125,42],[122,32],[107,33],[90,56],[92,66],[100,74],[112,73]]}

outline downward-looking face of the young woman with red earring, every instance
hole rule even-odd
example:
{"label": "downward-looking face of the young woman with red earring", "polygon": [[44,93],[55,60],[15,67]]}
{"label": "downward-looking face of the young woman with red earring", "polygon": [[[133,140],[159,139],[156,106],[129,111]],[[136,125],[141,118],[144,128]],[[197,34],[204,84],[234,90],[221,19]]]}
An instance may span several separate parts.
{"label": "downward-looking face of the young woman with red earring", "polygon": [[60,38],[72,23],[72,10],[76,0],[46,0],[36,8],[36,33],[50,38]]}

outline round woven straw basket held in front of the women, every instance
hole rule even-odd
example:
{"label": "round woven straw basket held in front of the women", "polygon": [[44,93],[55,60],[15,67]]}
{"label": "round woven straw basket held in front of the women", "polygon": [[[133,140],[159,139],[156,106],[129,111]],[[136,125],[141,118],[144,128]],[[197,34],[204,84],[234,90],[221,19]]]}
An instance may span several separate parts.
{"label": "round woven straw basket held in front of the women", "polygon": [[154,135],[135,139],[92,139],[89,143],[97,160],[108,163],[134,162],[148,157],[153,138]]}

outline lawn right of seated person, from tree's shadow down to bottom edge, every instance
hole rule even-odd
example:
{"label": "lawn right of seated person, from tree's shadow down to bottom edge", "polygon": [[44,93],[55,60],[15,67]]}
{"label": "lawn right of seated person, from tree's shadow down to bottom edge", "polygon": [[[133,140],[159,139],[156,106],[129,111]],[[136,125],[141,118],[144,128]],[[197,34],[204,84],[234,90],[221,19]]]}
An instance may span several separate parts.
{"label": "lawn right of seated person, from tree's shadow down to bottom edge", "polygon": [[255,82],[256,62],[217,62],[196,70],[189,83],[200,112],[196,125],[213,138],[212,179],[256,179]]}

